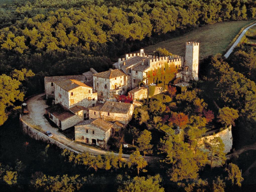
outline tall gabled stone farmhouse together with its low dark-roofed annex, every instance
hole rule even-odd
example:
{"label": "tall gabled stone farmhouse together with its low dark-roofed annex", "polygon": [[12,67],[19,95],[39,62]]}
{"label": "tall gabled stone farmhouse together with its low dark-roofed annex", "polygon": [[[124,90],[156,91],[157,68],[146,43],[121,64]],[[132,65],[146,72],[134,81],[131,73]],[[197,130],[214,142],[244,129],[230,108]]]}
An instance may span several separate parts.
{"label": "tall gabled stone farmhouse together with its low dark-roofed annex", "polygon": [[88,118],[88,108],[95,106],[97,93],[92,87],[75,79],[54,82],[55,104],[46,108],[46,114],[62,130]]}

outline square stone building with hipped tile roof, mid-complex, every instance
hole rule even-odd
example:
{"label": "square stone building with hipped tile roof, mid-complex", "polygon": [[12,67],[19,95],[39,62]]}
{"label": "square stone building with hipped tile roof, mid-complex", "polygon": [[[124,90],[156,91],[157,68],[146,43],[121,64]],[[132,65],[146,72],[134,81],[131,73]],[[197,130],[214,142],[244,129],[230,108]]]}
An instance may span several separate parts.
{"label": "square stone building with hipped tile roof, mid-complex", "polygon": [[114,95],[123,95],[127,91],[127,75],[120,69],[96,73],[93,75],[93,89],[99,100],[115,101]]}

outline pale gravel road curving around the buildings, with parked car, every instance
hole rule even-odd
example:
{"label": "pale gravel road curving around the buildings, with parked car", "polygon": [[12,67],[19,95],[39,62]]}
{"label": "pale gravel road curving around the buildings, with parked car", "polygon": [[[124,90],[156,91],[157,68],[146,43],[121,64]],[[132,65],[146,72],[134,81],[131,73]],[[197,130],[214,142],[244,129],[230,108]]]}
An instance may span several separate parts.
{"label": "pale gravel road curving around the buildings, with parked car", "polygon": [[[27,100],[28,104],[28,115],[23,115],[22,119],[38,128],[42,129],[42,132],[50,131],[54,136],[52,139],[78,151],[78,152],[89,152],[93,155],[110,155],[111,153],[93,146],[89,146],[86,144],[80,144],[76,142],[72,142],[71,139],[67,138],[63,133],[59,132],[58,128],[52,127],[47,119],[44,117],[45,114],[45,108],[48,107],[48,105],[45,104],[45,100],[43,100],[44,94],[35,95],[34,97],[31,97],[29,100]],[[114,155],[118,156],[118,153],[114,153]],[[123,158],[129,158],[130,155],[123,154]],[[146,156],[146,160],[157,160],[157,157],[150,157]]]}

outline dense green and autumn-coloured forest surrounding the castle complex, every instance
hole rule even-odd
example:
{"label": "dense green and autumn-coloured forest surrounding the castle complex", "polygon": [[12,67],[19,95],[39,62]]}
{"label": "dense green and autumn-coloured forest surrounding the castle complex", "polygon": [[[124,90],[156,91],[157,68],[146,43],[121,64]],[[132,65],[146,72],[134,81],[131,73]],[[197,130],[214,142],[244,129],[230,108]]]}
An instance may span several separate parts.
{"label": "dense green and autumn-coloured forest surrounding the castle complex", "polygon": [[[200,80],[186,92],[169,85],[136,108],[119,135],[136,146],[129,159],[121,158],[120,140],[113,146],[119,156],[75,154],[35,141],[22,134],[13,114],[24,98],[44,91],[45,76],[105,71],[124,53],[159,39],[222,21],[255,20],[255,1],[6,0],[0,7],[0,183],[6,190],[253,191],[255,174],[243,181],[240,171],[248,155],[227,160],[219,138],[199,142],[207,130],[230,124],[235,149],[256,141],[253,31],[228,59],[202,59]],[[170,71],[166,81],[176,69]],[[174,133],[177,127],[182,136]],[[211,155],[200,150],[202,144]],[[158,160],[147,162],[145,155]]]}

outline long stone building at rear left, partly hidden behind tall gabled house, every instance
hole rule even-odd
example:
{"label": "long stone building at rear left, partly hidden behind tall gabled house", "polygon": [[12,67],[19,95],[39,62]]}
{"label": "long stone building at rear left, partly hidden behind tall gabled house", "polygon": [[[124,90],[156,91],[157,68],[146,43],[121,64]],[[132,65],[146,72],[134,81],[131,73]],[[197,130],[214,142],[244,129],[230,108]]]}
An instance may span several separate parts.
{"label": "long stone building at rear left, partly hidden behind tall gabled house", "polygon": [[46,98],[54,97],[55,85],[54,82],[63,81],[68,79],[77,79],[82,83],[87,83],[93,81],[93,74],[97,73],[93,68],[90,68],[90,71],[83,73],[82,75],[66,75],[66,76],[52,76],[45,77],[45,95]]}

